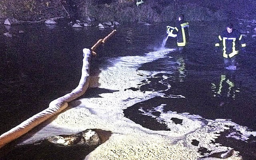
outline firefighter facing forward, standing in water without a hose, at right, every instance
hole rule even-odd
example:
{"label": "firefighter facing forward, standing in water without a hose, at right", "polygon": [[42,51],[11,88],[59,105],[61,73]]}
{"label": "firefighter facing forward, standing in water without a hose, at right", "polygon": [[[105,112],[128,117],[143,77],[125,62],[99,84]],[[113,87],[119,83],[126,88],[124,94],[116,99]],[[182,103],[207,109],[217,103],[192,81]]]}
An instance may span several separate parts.
{"label": "firefighter facing forward, standing in water without a hose, at right", "polygon": [[222,45],[224,67],[228,70],[236,70],[236,56],[240,49],[245,52],[244,47],[246,46],[241,33],[233,28],[232,23],[228,24],[226,30],[218,36],[215,44],[215,52],[218,52],[220,44]]}

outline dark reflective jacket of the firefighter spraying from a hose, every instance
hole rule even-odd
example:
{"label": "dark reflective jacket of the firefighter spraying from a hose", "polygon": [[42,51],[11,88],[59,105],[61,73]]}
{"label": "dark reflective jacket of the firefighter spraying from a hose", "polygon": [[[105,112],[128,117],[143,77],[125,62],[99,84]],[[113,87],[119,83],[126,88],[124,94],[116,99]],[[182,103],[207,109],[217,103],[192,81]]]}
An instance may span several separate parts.
{"label": "dark reflective jacket of the firefighter spraying from a hose", "polygon": [[173,34],[177,34],[177,45],[179,47],[186,46],[189,38],[189,24],[184,20],[177,21]]}

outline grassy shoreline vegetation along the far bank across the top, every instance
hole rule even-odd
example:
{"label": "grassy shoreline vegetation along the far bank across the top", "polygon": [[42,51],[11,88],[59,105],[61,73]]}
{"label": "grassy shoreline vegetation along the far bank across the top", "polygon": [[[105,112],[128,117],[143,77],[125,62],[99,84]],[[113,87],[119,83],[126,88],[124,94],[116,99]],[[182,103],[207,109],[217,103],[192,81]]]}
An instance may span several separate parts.
{"label": "grassy shoreline vegetation along the far bank across the top", "polygon": [[3,23],[6,18],[41,22],[56,17],[71,21],[93,17],[98,21],[162,23],[175,21],[181,13],[190,21],[255,18],[252,17],[255,11],[247,4],[251,6],[256,2],[144,0],[144,3],[136,5],[136,0],[1,0],[0,22]]}

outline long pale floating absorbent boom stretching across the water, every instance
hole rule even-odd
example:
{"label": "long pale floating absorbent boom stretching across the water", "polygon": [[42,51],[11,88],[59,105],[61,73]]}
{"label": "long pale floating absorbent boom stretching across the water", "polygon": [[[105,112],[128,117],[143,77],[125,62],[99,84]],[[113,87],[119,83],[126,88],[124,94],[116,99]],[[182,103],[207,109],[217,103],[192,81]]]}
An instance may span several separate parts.
{"label": "long pale floating absorbent boom stretching across the water", "polygon": [[50,102],[49,107],[43,110],[42,112],[39,112],[38,114],[32,116],[31,118],[25,120],[18,126],[12,128],[8,132],[5,132],[4,134],[2,134],[0,136],[0,148],[5,146],[9,142],[19,138],[20,136],[26,134],[28,131],[32,130],[32,128],[34,128],[35,126],[38,126],[38,124],[62,112],[62,110],[68,107],[68,102],[75,100],[76,98],[82,96],[86,92],[89,86],[91,53],[96,55],[95,53],[96,47],[102,43],[105,43],[106,40],[108,40],[112,35],[114,35],[115,32],[116,30],[113,30],[104,39],[98,40],[98,42],[91,49],[87,49],[87,48],[83,49],[84,59],[83,59],[83,66],[82,66],[82,75],[81,75],[81,79],[78,86],[69,94],[66,94],[65,96],[62,96]]}

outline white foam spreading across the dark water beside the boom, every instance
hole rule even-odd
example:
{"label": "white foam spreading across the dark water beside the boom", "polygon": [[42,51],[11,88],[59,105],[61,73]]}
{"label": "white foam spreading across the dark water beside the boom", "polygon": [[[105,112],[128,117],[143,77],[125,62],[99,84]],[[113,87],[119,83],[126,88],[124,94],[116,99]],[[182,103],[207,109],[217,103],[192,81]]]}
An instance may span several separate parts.
{"label": "white foam spreading across the dark water beside the boom", "polygon": [[[168,126],[169,131],[150,130],[124,117],[123,109],[156,96],[164,96],[156,91],[140,92],[140,90],[133,91],[128,88],[136,88],[142,80],[156,74],[155,71],[138,70],[142,64],[164,58],[172,51],[173,49],[165,49],[149,52],[145,56],[110,59],[112,66],[100,72],[99,87],[117,91],[102,93],[99,95],[100,97],[95,98],[81,98],[70,103],[70,108],[59,114],[50,125],[74,131],[88,128],[111,131],[113,134],[110,139],[86,156],[88,160],[196,160],[198,157],[202,157],[198,153],[198,148],[201,147],[212,152],[230,150],[229,146],[212,143],[220,132],[228,129],[227,126],[238,127],[237,124],[229,120],[205,120],[207,122],[205,123],[200,120],[203,117],[199,115],[177,114],[173,111],[164,112],[162,108],[166,104],[161,104],[155,110],[161,112],[159,120]],[[182,95],[170,95],[170,97],[185,98]],[[153,116],[146,112],[144,114]],[[171,118],[182,119],[182,124],[175,124]],[[251,134],[246,128],[239,128],[239,130],[245,136]],[[198,146],[192,145],[192,140],[198,140]],[[238,152],[235,152],[230,157],[231,159],[240,160],[242,158],[238,156]]]}

